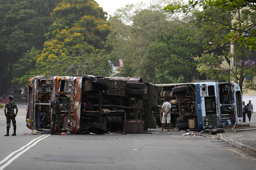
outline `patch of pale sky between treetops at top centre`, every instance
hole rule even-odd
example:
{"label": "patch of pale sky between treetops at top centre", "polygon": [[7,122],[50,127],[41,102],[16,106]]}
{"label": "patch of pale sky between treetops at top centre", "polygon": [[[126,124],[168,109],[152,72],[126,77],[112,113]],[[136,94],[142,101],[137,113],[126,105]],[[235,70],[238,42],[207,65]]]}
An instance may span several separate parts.
{"label": "patch of pale sky between treetops at top centre", "polygon": [[126,4],[148,3],[150,0],[95,0],[103,11],[108,15],[114,15],[117,9],[125,7]]}

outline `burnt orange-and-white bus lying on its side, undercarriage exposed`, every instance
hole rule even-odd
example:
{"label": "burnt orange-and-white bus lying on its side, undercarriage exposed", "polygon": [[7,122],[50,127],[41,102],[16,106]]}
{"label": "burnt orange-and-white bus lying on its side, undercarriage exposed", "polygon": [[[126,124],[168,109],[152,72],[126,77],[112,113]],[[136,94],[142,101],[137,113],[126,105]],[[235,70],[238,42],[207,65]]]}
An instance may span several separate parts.
{"label": "burnt orange-and-white bus lying on its side, undercarriage exposed", "polygon": [[56,94],[63,106],[63,132],[122,131],[127,120],[142,120],[145,130],[156,126],[149,106],[157,105],[157,88],[141,78],[36,76],[27,85],[26,126],[31,130],[50,131],[50,102]]}

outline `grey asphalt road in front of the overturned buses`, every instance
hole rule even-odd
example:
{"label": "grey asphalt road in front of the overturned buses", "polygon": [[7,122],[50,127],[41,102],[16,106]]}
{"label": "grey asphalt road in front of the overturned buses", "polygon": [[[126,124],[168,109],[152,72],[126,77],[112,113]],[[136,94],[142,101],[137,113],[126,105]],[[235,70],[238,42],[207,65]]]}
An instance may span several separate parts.
{"label": "grey asphalt road in front of the overturned buses", "polygon": [[[4,137],[5,116],[0,115],[0,170],[234,170],[255,169],[256,166],[255,157],[217,140],[216,135],[183,137],[183,133],[173,131],[127,135],[23,135],[31,133],[25,126],[25,115],[19,114],[16,121],[17,136]],[[8,157],[14,151],[17,152]]]}

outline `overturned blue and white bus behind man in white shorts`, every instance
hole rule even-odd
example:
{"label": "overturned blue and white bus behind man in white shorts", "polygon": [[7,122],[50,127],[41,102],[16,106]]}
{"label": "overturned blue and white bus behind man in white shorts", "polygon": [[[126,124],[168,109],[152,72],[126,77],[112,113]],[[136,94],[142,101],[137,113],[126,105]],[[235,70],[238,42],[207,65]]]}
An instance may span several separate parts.
{"label": "overturned blue and white bus behind man in white shorts", "polygon": [[[204,130],[242,123],[242,94],[238,84],[202,82],[154,84],[158,87],[158,115],[171,99],[171,122],[179,129]],[[160,112],[160,114],[159,114]]]}

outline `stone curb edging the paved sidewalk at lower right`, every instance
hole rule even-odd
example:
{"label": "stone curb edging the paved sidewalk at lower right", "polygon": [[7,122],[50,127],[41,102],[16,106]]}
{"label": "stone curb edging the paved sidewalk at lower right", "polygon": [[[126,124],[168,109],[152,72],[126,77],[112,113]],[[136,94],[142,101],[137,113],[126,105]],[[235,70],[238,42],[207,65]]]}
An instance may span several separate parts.
{"label": "stone curb edging the paved sidewalk at lower right", "polygon": [[218,134],[219,139],[222,139],[223,141],[229,143],[230,145],[234,146],[237,149],[240,149],[244,151],[245,153],[248,153],[250,155],[253,155],[256,157],[256,150],[248,145],[244,145],[240,142],[234,141],[233,139],[225,139],[222,134]]}

